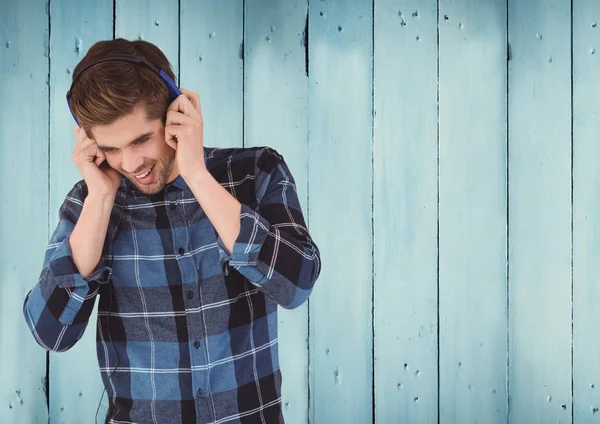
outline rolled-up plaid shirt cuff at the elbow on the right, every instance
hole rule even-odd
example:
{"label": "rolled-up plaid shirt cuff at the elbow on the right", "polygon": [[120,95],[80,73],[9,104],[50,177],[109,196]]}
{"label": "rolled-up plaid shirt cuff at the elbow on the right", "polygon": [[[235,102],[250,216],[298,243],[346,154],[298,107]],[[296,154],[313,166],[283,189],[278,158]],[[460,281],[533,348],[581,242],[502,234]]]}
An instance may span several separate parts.
{"label": "rolled-up plaid shirt cuff at the elbow on the right", "polygon": [[242,203],[240,213],[240,233],[233,244],[233,251],[228,253],[223,240],[217,239],[221,267],[228,275],[228,267],[243,274],[253,284],[263,284],[267,278],[257,265],[260,250],[267,239],[271,224],[255,210]]}

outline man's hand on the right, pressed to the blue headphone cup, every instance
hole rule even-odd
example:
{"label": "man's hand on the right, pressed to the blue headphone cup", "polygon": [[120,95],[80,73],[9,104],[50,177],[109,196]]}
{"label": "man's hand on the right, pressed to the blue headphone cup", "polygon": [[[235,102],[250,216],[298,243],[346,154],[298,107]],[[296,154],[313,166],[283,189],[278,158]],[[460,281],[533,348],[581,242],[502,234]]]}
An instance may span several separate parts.
{"label": "man's hand on the right, pressed to the blue headphone cup", "polygon": [[179,90],[183,94],[167,109],[165,141],[176,150],[179,174],[187,181],[205,169],[204,122],[198,94],[183,88]]}

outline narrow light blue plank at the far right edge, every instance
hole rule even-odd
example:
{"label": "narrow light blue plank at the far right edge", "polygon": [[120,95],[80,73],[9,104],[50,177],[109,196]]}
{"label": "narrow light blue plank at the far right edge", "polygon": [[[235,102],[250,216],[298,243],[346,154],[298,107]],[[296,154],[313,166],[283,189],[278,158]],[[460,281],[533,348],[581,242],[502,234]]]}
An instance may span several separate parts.
{"label": "narrow light blue plank at the far right edge", "polygon": [[573,409],[600,421],[600,3],[573,2]]}

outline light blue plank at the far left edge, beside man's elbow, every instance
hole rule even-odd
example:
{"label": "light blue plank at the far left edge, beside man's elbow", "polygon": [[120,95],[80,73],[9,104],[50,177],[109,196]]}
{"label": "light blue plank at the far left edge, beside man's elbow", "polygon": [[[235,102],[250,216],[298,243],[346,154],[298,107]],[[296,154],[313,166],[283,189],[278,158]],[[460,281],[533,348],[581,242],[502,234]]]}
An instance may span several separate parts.
{"label": "light blue plank at the far left edge, beside man's elbow", "polygon": [[23,317],[48,241],[48,14],[0,8],[0,422],[45,423],[46,352]]}

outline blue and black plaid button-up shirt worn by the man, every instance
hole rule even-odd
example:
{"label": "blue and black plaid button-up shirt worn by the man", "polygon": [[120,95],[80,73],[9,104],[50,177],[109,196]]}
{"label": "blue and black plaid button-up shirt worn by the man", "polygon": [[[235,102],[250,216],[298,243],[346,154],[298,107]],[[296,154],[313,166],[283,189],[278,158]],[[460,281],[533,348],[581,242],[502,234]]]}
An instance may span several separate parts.
{"label": "blue and black plaid button-up shirt worn by the man", "polygon": [[99,295],[107,423],[283,422],[277,305],[308,298],[319,250],[275,150],[205,148],[205,160],[242,203],[231,254],[181,176],[153,196],[123,177],[102,259],[83,278],[69,245],[87,196],[80,181],[25,298],[36,341],[61,352],[81,338]]}

